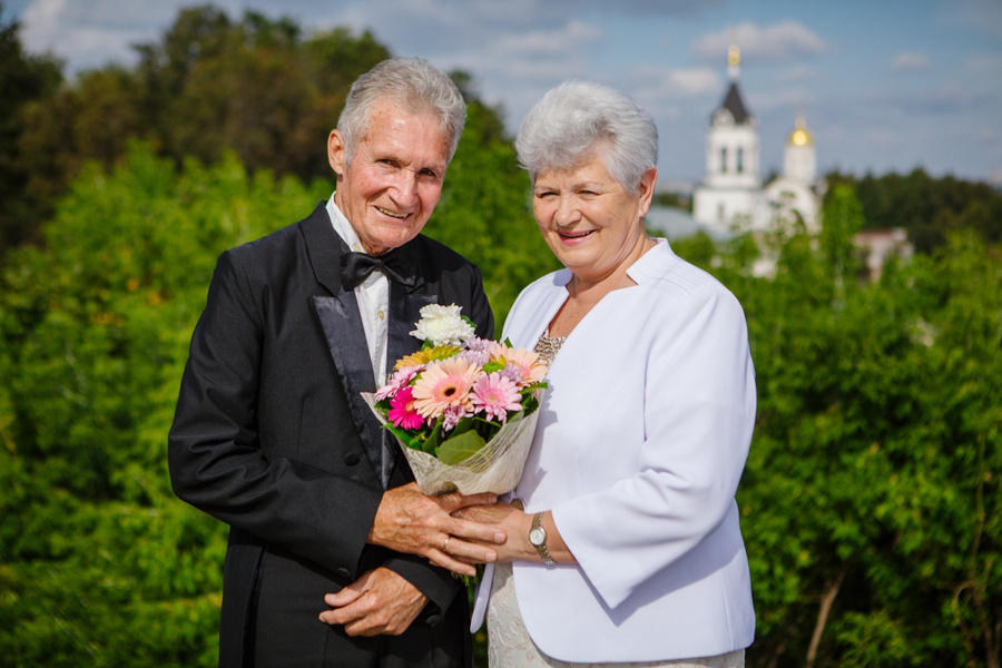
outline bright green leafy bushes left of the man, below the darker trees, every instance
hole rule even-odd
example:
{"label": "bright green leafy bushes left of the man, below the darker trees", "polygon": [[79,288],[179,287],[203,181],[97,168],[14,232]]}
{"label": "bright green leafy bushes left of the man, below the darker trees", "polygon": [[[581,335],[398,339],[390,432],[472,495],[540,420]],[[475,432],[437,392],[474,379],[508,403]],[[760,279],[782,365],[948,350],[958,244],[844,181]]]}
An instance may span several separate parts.
{"label": "bright green leafy bushes left of the man, below the darker trees", "polygon": [[0,655],[19,666],[216,662],[225,527],[166,474],[216,256],[324,197],[233,157],[135,146],[88,167],[0,283]]}

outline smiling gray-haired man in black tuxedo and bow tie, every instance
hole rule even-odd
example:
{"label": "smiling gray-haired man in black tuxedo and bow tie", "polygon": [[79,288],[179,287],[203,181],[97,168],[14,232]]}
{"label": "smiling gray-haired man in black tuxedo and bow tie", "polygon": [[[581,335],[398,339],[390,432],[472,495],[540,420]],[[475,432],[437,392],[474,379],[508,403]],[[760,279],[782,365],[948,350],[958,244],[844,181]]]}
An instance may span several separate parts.
{"label": "smiling gray-haired man in black tuxedo and bow tie", "polygon": [[464,120],[429,62],[380,63],[328,137],[331,200],[219,258],[169,464],[178,497],[230,525],[222,666],[471,664],[450,571],[505,536],[450,513],[494,499],[421,494],[360,396],[418,348],[426,304],[493,335],[480,272],[419,234]]}

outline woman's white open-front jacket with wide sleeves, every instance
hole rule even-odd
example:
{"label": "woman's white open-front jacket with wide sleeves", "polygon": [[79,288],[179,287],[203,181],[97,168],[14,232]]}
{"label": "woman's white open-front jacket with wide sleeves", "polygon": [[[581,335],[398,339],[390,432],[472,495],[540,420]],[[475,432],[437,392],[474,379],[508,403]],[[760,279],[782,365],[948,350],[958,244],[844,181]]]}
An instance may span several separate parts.
{"label": "woman's white open-front jacket with wide sleeves", "polygon": [[[628,274],[637,285],[603,297],[550,367],[515,490],[527,512],[552,511],[578,561],[513,563],[525,628],[563,661],[707,657],[754,638],[734,499],[756,409],[744,313],[664,239]],[[504,326],[515,346],[534,346],[570,277],[522,291]]]}

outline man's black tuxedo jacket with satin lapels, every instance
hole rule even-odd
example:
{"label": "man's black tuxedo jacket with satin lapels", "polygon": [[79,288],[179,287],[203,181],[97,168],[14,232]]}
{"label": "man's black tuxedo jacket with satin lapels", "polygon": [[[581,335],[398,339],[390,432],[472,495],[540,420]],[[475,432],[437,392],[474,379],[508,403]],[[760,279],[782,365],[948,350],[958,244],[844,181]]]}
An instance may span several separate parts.
{"label": "man's black tuxedo jacket with satin lapels", "polygon": [[[389,363],[420,346],[409,332],[425,304],[461,305],[478,335],[493,336],[479,269],[428,237],[409,243],[418,281],[390,284]],[[306,219],[224,253],[191,337],[169,468],[178,497],[230,525],[223,666],[249,665],[255,640],[258,662],[262,647],[285,642],[310,646],[315,665],[323,665],[325,651],[340,651],[331,649],[330,633],[343,635],[318,621],[323,595],[379,566],[430,599],[399,642],[412,630],[466,633],[466,597],[451,573],[365,543],[383,493],[379,458],[390,434],[360,396],[375,383],[355,294],[341,286],[344,250],[321,203]],[[391,445],[397,459],[390,487],[397,487],[413,477]],[[456,625],[462,628],[442,628]]]}

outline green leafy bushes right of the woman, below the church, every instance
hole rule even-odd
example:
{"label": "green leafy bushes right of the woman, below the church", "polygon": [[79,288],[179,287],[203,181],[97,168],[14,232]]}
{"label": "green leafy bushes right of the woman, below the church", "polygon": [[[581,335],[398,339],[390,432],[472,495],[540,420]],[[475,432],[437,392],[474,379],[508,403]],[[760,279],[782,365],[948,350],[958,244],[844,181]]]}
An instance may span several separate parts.
{"label": "green leafy bushes right of the woman, below the church", "polygon": [[756,364],[738,495],[758,612],[748,664],[994,668],[999,250],[953,234],[859,283],[844,243],[859,207],[843,188],[821,239],[776,237],[773,278],[749,276],[747,238],[697,255],[745,306]]}

